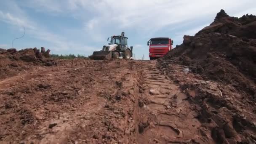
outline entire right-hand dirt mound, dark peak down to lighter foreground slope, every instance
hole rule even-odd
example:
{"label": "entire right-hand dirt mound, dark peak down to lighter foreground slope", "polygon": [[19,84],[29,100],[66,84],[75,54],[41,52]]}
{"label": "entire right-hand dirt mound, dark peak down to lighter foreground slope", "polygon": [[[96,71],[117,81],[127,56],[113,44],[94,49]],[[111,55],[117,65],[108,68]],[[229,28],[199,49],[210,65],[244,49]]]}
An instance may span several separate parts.
{"label": "entire right-hand dirt mound, dark peak down to lighter foreground slope", "polygon": [[159,63],[199,106],[197,118],[216,143],[256,142],[256,16],[221,10]]}

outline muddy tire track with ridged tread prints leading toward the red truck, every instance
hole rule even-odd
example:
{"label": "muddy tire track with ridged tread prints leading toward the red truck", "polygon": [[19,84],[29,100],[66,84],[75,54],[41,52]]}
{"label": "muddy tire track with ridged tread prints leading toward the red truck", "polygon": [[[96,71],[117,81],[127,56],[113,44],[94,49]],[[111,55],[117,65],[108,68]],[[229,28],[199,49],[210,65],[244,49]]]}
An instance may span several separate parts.
{"label": "muddy tire track with ridged tread prints leading toward the red truck", "polygon": [[205,143],[195,105],[156,67],[142,61],[138,111],[139,144]]}

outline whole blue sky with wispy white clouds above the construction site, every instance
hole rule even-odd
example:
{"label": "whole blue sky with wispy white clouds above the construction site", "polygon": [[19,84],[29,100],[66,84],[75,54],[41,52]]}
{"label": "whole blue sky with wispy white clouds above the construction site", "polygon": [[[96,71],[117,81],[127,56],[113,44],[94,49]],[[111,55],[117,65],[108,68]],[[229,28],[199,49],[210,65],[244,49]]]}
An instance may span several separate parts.
{"label": "whole blue sky with wispy white clouds above the construction site", "polygon": [[256,0],[1,0],[0,48],[51,49],[54,54],[91,55],[107,37],[128,37],[136,59],[148,58],[151,37],[195,35],[224,9],[230,16],[256,15]]}

